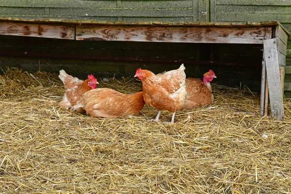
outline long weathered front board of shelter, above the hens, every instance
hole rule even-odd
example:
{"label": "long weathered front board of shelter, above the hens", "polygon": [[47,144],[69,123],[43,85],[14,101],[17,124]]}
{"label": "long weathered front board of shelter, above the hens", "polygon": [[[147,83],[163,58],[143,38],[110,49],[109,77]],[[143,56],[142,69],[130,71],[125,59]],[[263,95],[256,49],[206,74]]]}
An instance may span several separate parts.
{"label": "long weathered front board of shelter, above the hens", "polygon": [[265,27],[76,26],[76,40],[262,44],[264,39]]}

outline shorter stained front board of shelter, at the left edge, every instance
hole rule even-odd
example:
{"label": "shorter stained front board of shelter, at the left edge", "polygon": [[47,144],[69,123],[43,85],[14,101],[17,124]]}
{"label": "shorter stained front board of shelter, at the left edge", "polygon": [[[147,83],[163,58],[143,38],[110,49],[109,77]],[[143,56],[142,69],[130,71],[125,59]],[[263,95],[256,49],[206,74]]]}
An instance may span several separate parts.
{"label": "shorter stained front board of shelter, at the left edge", "polygon": [[32,36],[42,38],[74,39],[74,25],[49,25],[0,21],[1,35]]}

